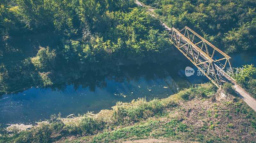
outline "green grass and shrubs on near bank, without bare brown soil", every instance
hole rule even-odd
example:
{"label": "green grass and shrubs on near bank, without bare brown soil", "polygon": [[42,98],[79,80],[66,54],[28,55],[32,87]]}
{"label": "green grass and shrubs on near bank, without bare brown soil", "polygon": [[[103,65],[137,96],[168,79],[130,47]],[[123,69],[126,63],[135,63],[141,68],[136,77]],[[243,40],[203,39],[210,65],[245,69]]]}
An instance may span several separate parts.
{"label": "green grass and shrubs on near bank, without bare brown soil", "polygon": [[[107,120],[105,117],[93,118],[91,114],[88,113],[87,115],[84,115],[82,119],[76,121],[76,123],[64,125],[58,117],[53,116],[52,119],[49,120],[49,123],[41,124],[38,127],[33,127],[30,130],[19,133],[16,132],[12,136],[9,134],[3,134],[0,136],[0,143],[53,142],[59,140],[60,138],[71,135],[82,136],[83,138],[80,139],[91,142],[111,142],[117,139],[143,139],[148,137],[166,137],[177,140],[189,138],[200,142],[220,141],[220,137],[213,136],[210,133],[207,134],[206,137],[205,133],[217,131],[215,128],[220,129],[222,122],[220,123],[217,121],[215,123],[215,121],[209,120],[207,123],[204,121],[203,126],[197,129],[189,124],[187,125],[186,122],[182,122],[182,120],[184,120],[186,117],[172,117],[172,114],[175,114],[177,110],[180,111],[181,116],[184,116],[184,113],[186,114],[187,111],[185,108],[182,108],[179,106],[179,104],[177,104],[178,100],[182,100],[181,95],[185,92],[190,93],[188,100],[191,100],[190,96],[194,96],[198,98],[196,100],[200,101],[200,99],[208,98],[205,95],[213,94],[214,90],[212,85],[203,84],[202,86],[185,89],[185,91],[180,91],[178,94],[161,100],[154,99],[147,102],[142,98],[138,99],[134,104],[117,103],[115,110],[113,111],[113,116]],[[189,101],[185,100],[182,102],[186,103]],[[178,107],[176,107],[177,105]],[[214,115],[215,118],[233,118],[235,116],[243,115],[250,121],[246,125],[250,124],[250,126],[255,128],[256,131],[256,114],[247,104],[245,104],[242,100],[238,100],[237,102],[225,102],[224,105],[226,105],[224,107],[227,109],[232,109],[232,112],[231,110],[224,109],[224,116],[222,116],[221,113],[217,114],[215,111],[223,107],[221,107],[219,104],[214,104],[214,106],[212,106],[215,110],[206,110],[202,116],[212,118],[211,116]],[[166,109],[173,111],[166,112]],[[213,114],[212,112],[215,113]],[[141,122],[148,120],[150,117],[154,118],[150,119],[150,121],[147,123]],[[163,118],[164,120],[160,120],[160,118]],[[234,130],[234,123],[232,123],[232,121],[229,123],[230,124],[225,125],[225,127],[228,129],[223,130],[224,132]],[[117,127],[121,128],[116,129]],[[194,132],[195,130],[196,132]],[[254,131],[252,133],[254,133]],[[225,139],[230,139],[225,136],[223,137]],[[69,140],[66,140],[66,142],[69,142]],[[71,142],[79,142],[79,140],[73,140]]]}

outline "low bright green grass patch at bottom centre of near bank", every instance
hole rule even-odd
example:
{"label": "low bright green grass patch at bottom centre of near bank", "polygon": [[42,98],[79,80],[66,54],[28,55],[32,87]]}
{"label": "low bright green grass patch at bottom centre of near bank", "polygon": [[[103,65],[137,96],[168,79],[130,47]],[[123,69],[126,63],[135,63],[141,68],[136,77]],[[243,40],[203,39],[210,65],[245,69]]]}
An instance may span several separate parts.
{"label": "low bright green grass patch at bottom centre of near bank", "polygon": [[117,139],[144,139],[153,137],[174,137],[179,132],[188,132],[188,126],[178,120],[172,119],[167,123],[161,121],[149,121],[143,125],[135,125],[116,129],[112,132],[99,133],[91,140],[91,143],[108,143]]}

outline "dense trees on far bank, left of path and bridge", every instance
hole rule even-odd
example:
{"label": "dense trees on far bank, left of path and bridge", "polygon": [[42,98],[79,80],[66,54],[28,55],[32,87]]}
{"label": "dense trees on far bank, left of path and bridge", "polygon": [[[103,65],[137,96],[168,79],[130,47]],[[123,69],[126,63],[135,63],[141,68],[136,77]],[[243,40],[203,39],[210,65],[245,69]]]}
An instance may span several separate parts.
{"label": "dense trees on far bank, left of path and bridge", "polygon": [[[168,61],[170,45],[160,21],[134,8],[133,0],[1,2],[0,59],[7,61],[0,69],[1,94],[64,84],[87,72],[115,72],[119,62],[128,66]],[[54,44],[29,43],[45,32],[55,32],[49,36]],[[16,46],[20,43],[13,40],[20,35],[28,37],[28,45]],[[25,56],[31,49],[37,54]],[[18,84],[25,80],[27,84]]]}

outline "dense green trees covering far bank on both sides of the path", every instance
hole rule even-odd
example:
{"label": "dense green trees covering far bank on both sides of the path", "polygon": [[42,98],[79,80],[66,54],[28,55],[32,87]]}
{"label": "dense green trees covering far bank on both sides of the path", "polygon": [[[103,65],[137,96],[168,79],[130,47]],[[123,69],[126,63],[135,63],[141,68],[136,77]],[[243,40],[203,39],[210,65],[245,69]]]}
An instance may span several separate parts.
{"label": "dense green trees covering far bank on both sides of the path", "polygon": [[[176,28],[235,52],[256,46],[254,0],[144,0]],[[51,86],[118,65],[162,64],[159,20],[133,0],[0,0],[0,93]],[[19,86],[17,86],[19,85]]]}

